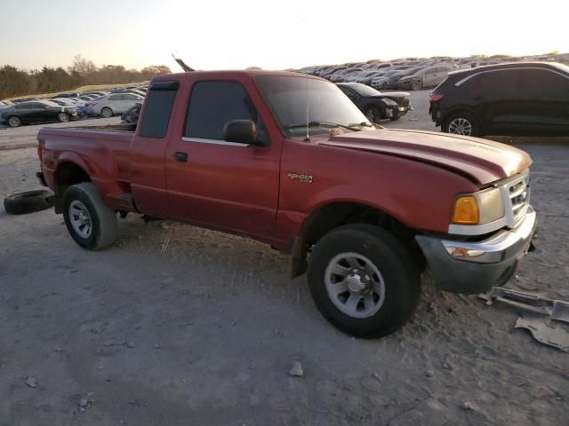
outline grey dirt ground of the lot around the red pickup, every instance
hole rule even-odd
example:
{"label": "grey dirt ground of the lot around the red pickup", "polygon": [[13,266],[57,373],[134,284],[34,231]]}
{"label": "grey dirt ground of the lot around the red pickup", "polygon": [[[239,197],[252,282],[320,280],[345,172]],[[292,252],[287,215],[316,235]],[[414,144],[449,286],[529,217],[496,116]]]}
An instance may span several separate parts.
{"label": "grey dirt ground of the lot around the red pickup", "polygon": [[[396,127],[433,129],[427,95]],[[0,146],[37,129],[0,130]],[[541,228],[511,286],[567,300],[569,146],[514,145],[533,155]],[[0,151],[0,196],[36,188],[36,170],[35,149]],[[0,425],[568,424],[568,354],[513,330],[507,307],[426,275],[412,323],[357,340],[265,245],[139,217],[120,234],[92,253],[52,210],[0,208]]]}

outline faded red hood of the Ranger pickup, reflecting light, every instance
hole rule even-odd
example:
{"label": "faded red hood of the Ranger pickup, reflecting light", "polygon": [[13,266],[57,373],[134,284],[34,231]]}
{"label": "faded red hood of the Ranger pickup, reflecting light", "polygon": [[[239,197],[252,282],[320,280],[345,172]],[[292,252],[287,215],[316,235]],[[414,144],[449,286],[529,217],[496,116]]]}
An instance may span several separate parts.
{"label": "faded red hood of the Ranger pickup, reflecting light", "polygon": [[515,175],[532,164],[528,154],[512,146],[434,131],[364,130],[325,138],[319,144],[429,162],[480,185]]}

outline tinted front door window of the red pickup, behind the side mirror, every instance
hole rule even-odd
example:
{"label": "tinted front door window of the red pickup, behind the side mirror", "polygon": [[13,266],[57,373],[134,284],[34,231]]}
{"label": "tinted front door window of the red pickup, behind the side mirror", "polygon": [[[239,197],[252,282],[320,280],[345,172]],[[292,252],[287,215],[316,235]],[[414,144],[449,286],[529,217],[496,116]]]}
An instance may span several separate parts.
{"label": "tinted front door window of the red pickup, behind the side mirror", "polygon": [[189,98],[184,136],[223,140],[223,128],[231,120],[252,120],[258,114],[241,83],[199,82]]}

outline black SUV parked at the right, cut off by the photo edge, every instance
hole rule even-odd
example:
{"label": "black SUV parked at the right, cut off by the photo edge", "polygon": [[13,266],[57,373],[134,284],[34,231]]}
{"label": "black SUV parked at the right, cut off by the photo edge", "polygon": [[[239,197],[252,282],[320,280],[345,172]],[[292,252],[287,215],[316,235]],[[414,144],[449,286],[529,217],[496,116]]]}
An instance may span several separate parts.
{"label": "black SUV parked at the right, cut off by the photo edge", "polygon": [[431,92],[429,113],[459,135],[569,135],[569,67],[516,62],[455,71]]}

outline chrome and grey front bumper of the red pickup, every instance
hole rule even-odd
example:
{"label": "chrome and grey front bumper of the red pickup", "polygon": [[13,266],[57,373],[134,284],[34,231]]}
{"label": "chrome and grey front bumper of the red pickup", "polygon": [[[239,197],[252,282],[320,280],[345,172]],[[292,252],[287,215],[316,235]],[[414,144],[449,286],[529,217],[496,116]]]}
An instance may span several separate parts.
{"label": "chrome and grey front bumper of the red pickup", "polygon": [[417,235],[437,287],[476,294],[502,286],[514,275],[519,260],[532,248],[537,215],[528,208],[515,229],[502,230],[485,241],[452,241]]}

